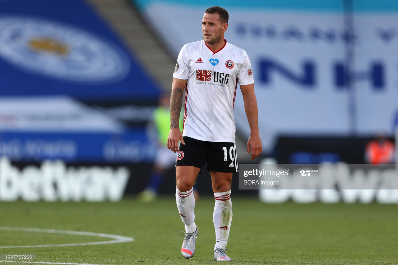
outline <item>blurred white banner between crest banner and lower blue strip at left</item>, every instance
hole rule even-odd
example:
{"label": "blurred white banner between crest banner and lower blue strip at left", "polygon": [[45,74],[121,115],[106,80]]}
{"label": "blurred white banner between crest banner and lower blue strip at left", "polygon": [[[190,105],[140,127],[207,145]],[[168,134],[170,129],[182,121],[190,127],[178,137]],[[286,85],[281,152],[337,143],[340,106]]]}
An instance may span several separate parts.
{"label": "blurred white banner between crest banner and lower blue strip at left", "polygon": [[121,133],[123,125],[68,96],[0,97],[0,130]]}

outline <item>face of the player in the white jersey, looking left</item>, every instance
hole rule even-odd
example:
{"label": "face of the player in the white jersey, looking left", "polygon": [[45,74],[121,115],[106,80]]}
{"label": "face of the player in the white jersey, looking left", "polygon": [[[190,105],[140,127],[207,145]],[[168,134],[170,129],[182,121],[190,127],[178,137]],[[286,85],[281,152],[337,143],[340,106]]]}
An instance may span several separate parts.
{"label": "face of the player in the white jersey, looking left", "polygon": [[202,19],[202,32],[205,43],[216,44],[223,41],[223,39],[221,39],[222,33],[226,31],[227,27],[227,23],[222,23],[220,21],[219,14],[205,13]]}

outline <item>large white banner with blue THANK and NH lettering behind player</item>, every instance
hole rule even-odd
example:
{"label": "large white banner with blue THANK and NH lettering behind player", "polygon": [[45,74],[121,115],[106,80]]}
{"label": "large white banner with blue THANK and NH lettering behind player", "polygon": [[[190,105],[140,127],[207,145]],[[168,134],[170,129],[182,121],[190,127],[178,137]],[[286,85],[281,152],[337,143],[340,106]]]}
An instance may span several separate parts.
{"label": "large white banner with blue THANK and NH lettering behind player", "polygon": [[[227,9],[225,38],[245,49],[252,63],[260,132],[392,136],[398,113],[396,1],[353,0],[352,16],[344,1],[334,0],[135,2],[176,58],[185,43],[202,39],[206,8]],[[235,115],[244,118],[239,93]],[[237,122],[237,129],[248,125]]]}

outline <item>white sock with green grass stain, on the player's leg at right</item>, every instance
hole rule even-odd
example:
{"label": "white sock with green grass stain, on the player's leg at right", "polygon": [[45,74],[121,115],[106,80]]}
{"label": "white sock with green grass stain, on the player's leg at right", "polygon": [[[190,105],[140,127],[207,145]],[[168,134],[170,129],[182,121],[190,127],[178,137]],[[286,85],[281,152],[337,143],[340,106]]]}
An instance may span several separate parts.
{"label": "white sock with green grass stain, on the player's leg at right", "polygon": [[213,223],[216,230],[216,244],[214,250],[217,248],[225,249],[228,242],[232,221],[232,202],[230,197],[230,190],[214,193],[214,198],[216,199],[213,212]]}

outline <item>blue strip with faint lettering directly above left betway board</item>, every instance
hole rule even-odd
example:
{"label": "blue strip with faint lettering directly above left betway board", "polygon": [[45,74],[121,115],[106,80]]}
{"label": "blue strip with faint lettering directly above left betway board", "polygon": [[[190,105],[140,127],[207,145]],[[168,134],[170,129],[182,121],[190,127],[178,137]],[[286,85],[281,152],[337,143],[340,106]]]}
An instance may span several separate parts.
{"label": "blue strip with faint lettering directly above left betway board", "polygon": [[3,132],[0,157],[12,161],[150,163],[156,145],[144,129],[115,133]]}

